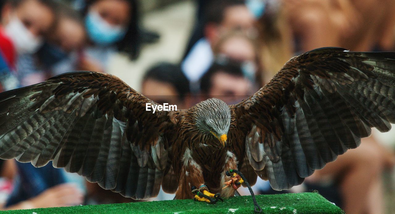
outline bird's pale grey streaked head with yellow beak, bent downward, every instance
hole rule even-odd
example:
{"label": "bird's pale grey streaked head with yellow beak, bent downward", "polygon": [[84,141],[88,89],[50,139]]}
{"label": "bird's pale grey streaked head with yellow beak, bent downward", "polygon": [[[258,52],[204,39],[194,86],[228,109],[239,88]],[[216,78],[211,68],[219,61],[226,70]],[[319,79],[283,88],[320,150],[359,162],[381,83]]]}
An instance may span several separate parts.
{"label": "bird's pale grey streaked head with yellow beak, bent downward", "polygon": [[222,146],[228,139],[230,108],[222,100],[211,98],[196,104],[194,119],[199,132],[214,136]]}

